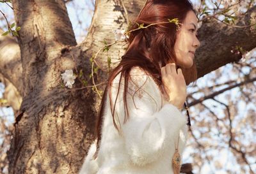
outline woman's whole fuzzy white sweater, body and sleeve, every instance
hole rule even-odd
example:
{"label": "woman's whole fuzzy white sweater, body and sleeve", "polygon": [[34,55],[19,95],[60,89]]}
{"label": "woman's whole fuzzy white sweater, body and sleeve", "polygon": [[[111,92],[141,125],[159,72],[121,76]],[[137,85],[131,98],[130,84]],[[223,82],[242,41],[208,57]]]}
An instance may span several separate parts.
{"label": "woman's whole fuzzy white sweater, body and sleeve", "polygon": [[182,156],[186,145],[188,126],[186,116],[164,100],[153,78],[142,69],[131,69],[128,82],[127,106],[129,119],[124,123],[124,78],[115,106],[113,124],[109,97],[115,103],[120,74],[111,85],[111,96],[106,98],[102,140],[97,159],[92,143],[79,174],[173,174],[172,156],[179,138]]}

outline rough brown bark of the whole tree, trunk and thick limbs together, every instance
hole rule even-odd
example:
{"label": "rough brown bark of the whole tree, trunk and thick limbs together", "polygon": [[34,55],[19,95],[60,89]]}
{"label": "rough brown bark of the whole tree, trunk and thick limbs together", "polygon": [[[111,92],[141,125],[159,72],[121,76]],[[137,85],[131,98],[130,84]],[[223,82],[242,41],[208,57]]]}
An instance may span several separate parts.
{"label": "rough brown bark of the whole tree, trunk and thick limbs together", "polygon": [[[104,46],[104,39],[114,41],[112,29],[127,27],[125,11],[132,20],[144,2],[125,0],[125,10],[122,1],[96,1],[90,31],[81,45],[76,45],[63,1],[13,0],[12,4],[25,11],[15,10],[16,23],[21,26],[19,47],[10,38],[0,40],[0,73],[22,96],[8,152],[9,173],[77,173],[94,138],[99,98],[90,88],[63,91],[60,74],[65,69],[83,69],[84,78],[88,78],[90,57]],[[239,24],[247,24],[249,19],[256,22],[255,11],[253,7]],[[241,55],[232,55],[230,47],[256,47],[255,27],[239,29],[208,20],[199,34],[199,76],[238,61]],[[7,47],[13,48],[13,55],[7,54],[11,52]],[[97,61],[106,68],[108,56],[115,62],[123,53],[122,45],[116,44],[108,52],[100,52]],[[96,82],[106,80],[106,75],[100,71]],[[81,87],[81,83],[76,80],[74,87]]]}

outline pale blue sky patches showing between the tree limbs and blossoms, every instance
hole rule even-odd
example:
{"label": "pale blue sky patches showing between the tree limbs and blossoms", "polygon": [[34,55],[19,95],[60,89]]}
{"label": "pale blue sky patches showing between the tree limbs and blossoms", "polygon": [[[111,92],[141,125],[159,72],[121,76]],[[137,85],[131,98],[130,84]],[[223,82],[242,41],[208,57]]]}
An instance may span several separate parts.
{"label": "pale blue sky patches showing between the tree limbs and blossoms", "polygon": [[[196,3],[195,0],[192,1],[193,4]],[[74,6],[76,8],[74,8]],[[92,20],[92,15],[93,15],[93,6],[92,3],[90,3],[89,0],[87,1],[81,1],[81,0],[74,0],[72,3],[68,3],[67,4],[67,10],[68,10],[68,15],[70,16],[71,22],[72,22],[72,27],[74,29],[74,33],[76,35],[77,38],[77,43],[81,43],[81,41],[84,40],[84,38],[86,37],[87,34],[87,29],[90,26],[90,22]],[[75,10],[76,9],[76,10]],[[3,7],[0,6],[0,10],[4,11],[7,14],[7,17],[10,21],[14,21],[13,19],[13,15],[12,15],[12,11],[10,11],[10,9],[8,10],[8,7]],[[10,22],[12,23],[12,22]],[[3,27],[3,25],[5,25],[4,22],[0,22],[0,26]],[[252,54],[252,56],[256,57],[256,52],[253,51],[250,54]],[[232,68],[232,66],[230,64],[227,64],[226,66],[221,67],[221,69],[223,69],[223,73],[226,75],[221,76],[220,79],[218,79],[218,82],[226,82],[229,79],[234,79],[236,80],[238,78],[238,76],[236,74],[230,74],[230,76],[227,76],[227,73],[230,71],[230,69]],[[248,73],[248,69],[243,68],[242,71],[244,73]],[[208,75],[205,75],[203,78],[198,79],[197,82],[197,87],[198,88],[204,88],[207,85],[213,85],[213,83],[208,80],[209,78],[212,78],[212,76],[214,76],[214,73],[209,73]],[[188,88],[188,93],[192,92],[193,88]],[[0,83],[0,98],[2,98],[4,92],[4,85],[3,83]],[[239,92],[238,88],[232,89],[232,92],[234,92],[233,94],[237,94],[237,92]],[[229,92],[228,92],[229,93]],[[200,98],[202,96],[202,94],[198,94],[198,96],[194,96],[195,98],[198,97]],[[223,94],[221,94],[220,96],[218,96],[218,99],[220,101],[223,101],[225,103],[226,99],[225,99],[225,92]],[[232,96],[232,99],[236,99],[236,96]],[[212,105],[218,105],[216,102],[211,101],[211,100],[207,100],[204,101],[204,104],[209,106],[210,108],[212,107]],[[243,117],[244,113],[246,113],[246,110],[248,110],[248,108],[255,108],[255,105],[249,105],[249,106],[245,106],[243,102],[239,103],[239,105],[241,107],[239,108],[244,108],[244,110],[241,110],[241,114],[238,115],[237,117]],[[201,113],[196,113],[195,110],[193,110],[193,108],[191,108],[191,112],[193,112],[192,117],[195,117],[195,115],[200,115]],[[220,108],[218,110],[215,110],[215,112],[217,112],[220,117],[221,115],[223,115],[223,110],[221,110]],[[13,122],[13,111],[12,108],[0,108],[0,117],[8,117],[8,124],[12,124]],[[194,124],[193,122],[191,123],[192,125]],[[195,130],[195,135],[199,136],[199,132]],[[248,136],[252,136],[252,133],[248,133]],[[216,137],[218,138],[218,137]],[[255,136],[252,136],[254,143],[256,143],[255,140]],[[215,138],[212,138],[212,141],[214,141]],[[1,143],[1,138],[0,138],[0,143]],[[216,143],[218,143],[218,141],[216,141]],[[184,163],[193,163],[193,157],[191,156],[191,153],[194,152],[195,149],[192,149],[191,147],[186,148],[186,150],[184,151],[183,154],[183,162]],[[236,160],[234,160],[234,156],[232,155],[232,153],[230,152],[230,150],[224,149],[221,151],[218,151],[217,149],[211,149],[209,150],[209,152],[207,152],[209,154],[211,153],[215,153],[215,154],[221,154],[220,156],[215,156],[216,157],[216,161],[219,161],[219,163],[221,164],[225,164],[226,168],[230,168],[230,169],[234,169],[237,168],[237,171],[239,171],[239,165],[236,165]],[[251,159],[251,161],[255,162],[255,159]],[[230,161],[232,161],[232,163],[230,163]],[[227,171],[225,170],[216,170],[215,167],[216,164],[214,163],[205,163],[205,165],[202,167],[200,173],[207,173],[207,174],[211,174],[211,173],[216,173],[216,174],[228,174]],[[256,165],[252,166],[254,168],[254,170],[256,171]],[[195,173],[198,173],[198,169],[194,168],[193,170]],[[237,173],[238,174],[238,173]]]}

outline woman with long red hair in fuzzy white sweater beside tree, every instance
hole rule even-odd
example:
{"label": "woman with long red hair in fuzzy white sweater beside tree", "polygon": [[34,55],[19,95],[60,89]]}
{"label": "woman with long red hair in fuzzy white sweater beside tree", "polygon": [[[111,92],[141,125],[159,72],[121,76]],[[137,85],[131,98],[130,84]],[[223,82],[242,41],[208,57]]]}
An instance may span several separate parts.
{"label": "woman with long red hair in fuzzy white sweater beside tree", "polygon": [[[173,18],[180,24],[166,22]],[[109,76],[97,140],[80,174],[179,173],[188,133],[188,117],[180,110],[186,85],[196,80],[197,21],[188,0],[147,1]],[[153,25],[136,30],[136,23]]]}

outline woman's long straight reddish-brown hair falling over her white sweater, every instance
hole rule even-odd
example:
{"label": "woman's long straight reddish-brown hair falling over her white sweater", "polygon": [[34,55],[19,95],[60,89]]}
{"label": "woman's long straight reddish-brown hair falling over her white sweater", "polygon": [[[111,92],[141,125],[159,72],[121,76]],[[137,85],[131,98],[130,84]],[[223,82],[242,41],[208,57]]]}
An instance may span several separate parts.
{"label": "woman's long straight reddish-brown hair falling over her white sweater", "polygon": [[[131,26],[131,30],[138,28],[138,24],[150,25],[159,22],[168,22],[168,19],[178,18],[179,23],[183,23],[184,18],[189,10],[193,10],[193,5],[189,0],[148,0],[143,9],[140,11],[138,18]],[[146,29],[138,29],[129,34],[129,47],[122,56],[120,64],[111,71],[106,89],[104,90],[102,101],[100,103],[99,115],[97,117],[96,133],[97,133],[97,151],[94,157],[97,157],[97,152],[101,140],[102,117],[104,113],[104,106],[106,104],[106,97],[109,94],[108,89],[111,86],[113,79],[120,73],[120,78],[124,77],[124,105],[125,105],[125,122],[129,119],[127,111],[127,83],[129,80],[129,73],[131,68],[139,66],[148,75],[152,76],[157,85],[161,85],[161,66],[165,66],[169,62],[176,62],[176,55],[174,52],[174,44],[176,41],[177,25],[174,23],[161,23],[151,25]],[[147,56],[150,55],[150,56]],[[197,79],[195,62],[189,69],[182,68],[186,84],[194,82]],[[120,87],[120,83],[119,83]],[[161,89],[161,88],[159,88]],[[119,88],[118,88],[119,92]],[[162,91],[163,92],[163,91]],[[110,94],[109,94],[110,95]],[[118,95],[118,94],[117,94]],[[116,96],[117,98],[117,96]],[[111,113],[113,116],[113,124],[116,129],[116,122],[114,119],[115,104],[110,99]]]}

